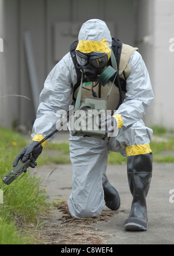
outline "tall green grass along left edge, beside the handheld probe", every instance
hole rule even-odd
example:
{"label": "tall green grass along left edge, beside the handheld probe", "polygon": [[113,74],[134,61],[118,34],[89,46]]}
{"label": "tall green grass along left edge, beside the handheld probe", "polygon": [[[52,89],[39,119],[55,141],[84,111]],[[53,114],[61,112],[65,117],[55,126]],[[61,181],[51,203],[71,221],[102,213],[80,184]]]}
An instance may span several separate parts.
{"label": "tall green grass along left edge, beside the handheld probe", "polygon": [[17,229],[15,223],[20,222],[38,225],[38,216],[48,205],[46,192],[40,190],[41,179],[30,172],[21,175],[9,186],[2,182],[2,177],[12,169],[14,158],[26,146],[26,141],[12,130],[0,127],[0,189],[3,191],[3,203],[0,204],[0,244],[30,244],[31,237]]}

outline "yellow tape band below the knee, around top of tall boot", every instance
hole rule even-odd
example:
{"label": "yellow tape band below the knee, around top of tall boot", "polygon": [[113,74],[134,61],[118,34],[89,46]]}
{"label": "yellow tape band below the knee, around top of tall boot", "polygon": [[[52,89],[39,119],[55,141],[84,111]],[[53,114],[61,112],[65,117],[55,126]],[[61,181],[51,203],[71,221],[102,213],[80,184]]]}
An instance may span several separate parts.
{"label": "yellow tape band below the knee, around top of tall boot", "polygon": [[131,155],[143,155],[151,153],[150,145],[144,144],[144,145],[133,145],[126,147],[126,154],[127,157],[130,157]]}

